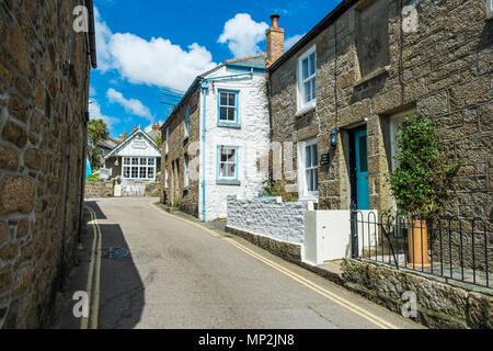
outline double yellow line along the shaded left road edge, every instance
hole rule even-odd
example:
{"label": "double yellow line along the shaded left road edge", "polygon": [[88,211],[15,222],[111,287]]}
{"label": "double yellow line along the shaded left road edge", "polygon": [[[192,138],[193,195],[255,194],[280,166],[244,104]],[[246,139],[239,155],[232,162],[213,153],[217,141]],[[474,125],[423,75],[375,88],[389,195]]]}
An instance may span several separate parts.
{"label": "double yellow line along the shaded left road edge", "polygon": [[[91,215],[92,228],[94,229],[94,238],[92,240],[91,264],[89,267],[88,283],[85,292],[89,296],[89,304],[91,306],[89,317],[83,317],[80,322],[81,329],[89,329],[89,321],[91,320],[91,329],[98,329],[98,318],[100,309],[100,276],[101,276],[101,242],[102,234],[98,223],[95,212],[85,206]],[[95,272],[95,276],[94,276]],[[94,286],[93,286],[94,281]],[[94,290],[94,291],[93,291]]]}

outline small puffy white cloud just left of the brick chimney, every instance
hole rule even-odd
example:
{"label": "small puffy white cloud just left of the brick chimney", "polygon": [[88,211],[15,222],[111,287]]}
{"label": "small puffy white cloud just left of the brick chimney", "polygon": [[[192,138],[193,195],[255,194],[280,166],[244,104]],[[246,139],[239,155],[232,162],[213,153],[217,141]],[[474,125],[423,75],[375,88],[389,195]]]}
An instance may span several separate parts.
{"label": "small puffy white cloud just left of the brick chimney", "polygon": [[265,41],[265,22],[255,22],[248,13],[238,13],[225,24],[225,30],[218,43],[228,44],[236,58],[259,54],[262,49],[259,43]]}

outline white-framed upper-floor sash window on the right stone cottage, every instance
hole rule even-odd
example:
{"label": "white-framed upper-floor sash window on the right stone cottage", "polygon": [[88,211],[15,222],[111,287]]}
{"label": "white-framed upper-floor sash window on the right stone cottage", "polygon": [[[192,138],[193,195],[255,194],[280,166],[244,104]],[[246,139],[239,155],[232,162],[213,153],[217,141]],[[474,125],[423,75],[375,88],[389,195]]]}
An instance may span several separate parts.
{"label": "white-framed upper-floor sash window on the right stone cottage", "polygon": [[312,47],[299,58],[298,64],[298,110],[317,103],[317,52]]}

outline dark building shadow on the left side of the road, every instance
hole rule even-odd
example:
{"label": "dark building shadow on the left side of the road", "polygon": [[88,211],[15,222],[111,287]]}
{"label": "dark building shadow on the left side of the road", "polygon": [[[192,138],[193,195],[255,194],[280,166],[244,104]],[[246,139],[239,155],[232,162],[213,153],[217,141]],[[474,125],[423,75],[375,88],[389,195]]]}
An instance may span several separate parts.
{"label": "dark building shadow on the left side of the road", "polygon": [[[144,282],[134,263],[131,251],[121,226],[101,223],[107,217],[95,201],[85,202],[85,206],[94,211],[100,220],[99,227],[102,235],[100,288],[98,291],[95,284],[96,269],[94,268],[92,297],[90,297],[92,305],[95,294],[99,293],[98,328],[131,329],[139,322],[142,315]],[[72,301],[72,296],[76,292],[87,291],[94,238],[94,227],[88,213],[85,213],[84,219],[87,223],[82,237],[84,250],[78,252],[80,264],[72,271],[67,288],[65,288],[65,306],[60,312],[58,322],[58,328],[61,329],[79,329],[81,326],[81,319],[73,316],[72,309],[77,302]],[[94,310],[91,310],[89,328],[92,327],[93,315]]]}

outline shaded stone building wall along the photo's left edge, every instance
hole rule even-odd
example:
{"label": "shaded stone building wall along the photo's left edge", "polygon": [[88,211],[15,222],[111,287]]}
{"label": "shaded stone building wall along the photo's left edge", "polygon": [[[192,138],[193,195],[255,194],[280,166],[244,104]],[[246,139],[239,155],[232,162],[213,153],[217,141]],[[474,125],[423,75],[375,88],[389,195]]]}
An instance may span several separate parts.
{"label": "shaded stone building wall along the photo's left edge", "polygon": [[96,57],[79,3],[0,3],[0,328],[47,326],[81,234]]}

